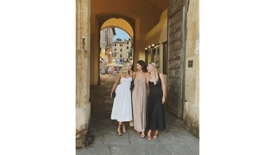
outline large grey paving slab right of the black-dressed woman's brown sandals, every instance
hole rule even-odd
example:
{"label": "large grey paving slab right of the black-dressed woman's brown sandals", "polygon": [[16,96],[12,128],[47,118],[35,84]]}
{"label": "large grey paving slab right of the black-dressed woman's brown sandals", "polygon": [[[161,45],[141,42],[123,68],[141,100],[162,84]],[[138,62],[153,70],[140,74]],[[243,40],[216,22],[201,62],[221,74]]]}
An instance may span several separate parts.
{"label": "large grey paving slab right of the black-dressed woman's brown sandals", "polygon": [[192,133],[185,130],[159,131],[158,138],[160,138],[161,142],[182,142],[199,140],[195,135],[192,135]]}

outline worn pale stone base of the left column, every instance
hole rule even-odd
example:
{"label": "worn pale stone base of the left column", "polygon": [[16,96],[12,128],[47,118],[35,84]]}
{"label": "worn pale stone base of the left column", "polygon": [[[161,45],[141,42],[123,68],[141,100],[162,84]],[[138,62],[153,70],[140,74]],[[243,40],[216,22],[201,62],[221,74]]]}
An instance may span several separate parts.
{"label": "worn pale stone base of the left column", "polygon": [[86,143],[86,135],[89,130],[89,123],[91,117],[91,103],[89,102],[84,107],[75,108],[75,140],[76,148],[82,148]]}

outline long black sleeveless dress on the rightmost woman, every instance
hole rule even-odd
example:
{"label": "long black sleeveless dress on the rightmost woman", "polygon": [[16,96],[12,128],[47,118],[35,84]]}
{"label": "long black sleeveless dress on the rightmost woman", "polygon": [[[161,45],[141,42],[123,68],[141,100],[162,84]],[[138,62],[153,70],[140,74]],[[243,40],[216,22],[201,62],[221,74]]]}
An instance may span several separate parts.
{"label": "long black sleeveless dress on the rightmost woman", "polygon": [[166,129],[165,108],[162,104],[162,89],[160,75],[158,73],[157,84],[149,81],[150,93],[147,100],[146,130],[164,131]]}

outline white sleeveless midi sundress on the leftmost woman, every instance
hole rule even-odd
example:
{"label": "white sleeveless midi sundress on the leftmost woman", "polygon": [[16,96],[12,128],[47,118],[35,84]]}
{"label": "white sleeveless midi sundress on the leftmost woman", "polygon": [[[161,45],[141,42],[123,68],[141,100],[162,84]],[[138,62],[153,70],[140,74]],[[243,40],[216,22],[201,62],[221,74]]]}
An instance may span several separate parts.
{"label": "white sleeveless midi sundress on the leftmost woman", "polygon": [[131,121],[132,118],[132,103],[130,86],[132,77],[121,78],[121,84],[115,89],[115,99],[111,119],[116,119],[119,122]]}

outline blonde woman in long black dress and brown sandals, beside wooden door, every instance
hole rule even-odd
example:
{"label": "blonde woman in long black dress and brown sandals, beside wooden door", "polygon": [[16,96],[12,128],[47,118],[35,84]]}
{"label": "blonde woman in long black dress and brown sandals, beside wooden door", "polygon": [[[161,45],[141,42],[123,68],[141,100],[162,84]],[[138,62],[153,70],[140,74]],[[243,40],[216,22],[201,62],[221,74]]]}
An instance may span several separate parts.
{"label": "blonde woman in long black dress and brown sandals, beside wooden door", "polygon": [[155,131],[154,138],[158,137],[158,131],[166,129],[165,123],[165,84],[163,76],[160,76],[155,63],[149,63],[148,76],[146,78],[147,88],[150,87],[150,93],[147,100],[146,110],[146,130],[148,131],[148,140],[151,140],[151,132]]}

